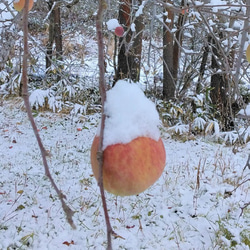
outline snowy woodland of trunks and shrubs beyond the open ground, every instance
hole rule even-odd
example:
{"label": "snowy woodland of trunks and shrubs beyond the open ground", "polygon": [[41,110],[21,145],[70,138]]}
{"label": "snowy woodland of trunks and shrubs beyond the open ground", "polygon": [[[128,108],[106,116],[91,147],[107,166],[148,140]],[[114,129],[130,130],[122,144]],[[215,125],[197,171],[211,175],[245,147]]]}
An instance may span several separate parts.
{"label": "snowy woodland of trunks and shrubs beyond the open ground", "polygon": [[[98,103],[98,71],[85,61],[87,43],[96,36],[97,4],[39,0],[29,13],[35,109],[86,112]],[[1,6],[0,91],[6,98],[21,95],[22,32],[12,2]],[[219,126],[237,132],[230,143],[244,141],[246,131],[239,132],[235,119],[250,96],[249,8],[247,1],[236,0],[108,1],[104,22],[115,18],[125,29],[118,38],[104,25],[108,86],[121,78],[140,81],[167,126]],[[243,122],[246,128],[247,119]]]}

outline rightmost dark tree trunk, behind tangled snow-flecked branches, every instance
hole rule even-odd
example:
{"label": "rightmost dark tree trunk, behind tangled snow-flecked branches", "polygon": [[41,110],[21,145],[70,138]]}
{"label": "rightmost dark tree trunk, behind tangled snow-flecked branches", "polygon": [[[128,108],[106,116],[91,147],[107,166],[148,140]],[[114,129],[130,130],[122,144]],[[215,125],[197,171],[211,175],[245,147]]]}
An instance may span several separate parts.
{"label": "rightmost dark tree trunk, behind tangled snow-flecked branches", "polygon": [[[237,12],[240,11],[237,10]],[[215,117],[220,120],[223,130],[234,129],[234,116],[238,111],[238,101],[235,93],[238,93],[238,84],[234,80],[235,56],[237,40],[234,30],[235,10],[220,9],[217,13],[205,15],[200,12],[201,19],[206,27],[207,42],[203,53],[200,75],[196,90],[200,91],[200,79],[204,74],[209,52],[211,53],[211,84],[210,98]],[[237,15],[237,14],[236,14]],[[233,18],[232,18],[233,17]],[[212,25],[207,19],[217,18],[219,22]],[[232,21],[233,20],[233,21]],[[227,30],[228,29],[228,30]],[[210,66],[207,66],[209,69]]]}

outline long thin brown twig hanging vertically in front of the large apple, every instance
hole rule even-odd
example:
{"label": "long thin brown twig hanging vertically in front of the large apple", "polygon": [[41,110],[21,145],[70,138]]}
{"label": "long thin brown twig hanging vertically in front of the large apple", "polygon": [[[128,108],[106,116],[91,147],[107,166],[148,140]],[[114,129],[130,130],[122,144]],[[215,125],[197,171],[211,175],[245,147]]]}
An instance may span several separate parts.
{"label": "long thin brown twig hanging vertically in front of the large apple", "polygon": [[105,113],[104,113],[104,104],[106,101],[106,83],[105,83],[105,61],[104,61],[104,44],[103,44],[103,33],[102,33],[102,19],[103,13],[107,9],[107,3],[105,0],[99,0],[99,8],[96,15],[96,33],[97,33],[97,43],[98,43],[98,66],[99,66],[99,90],[102,100],[102,119],[101,119],[101,131],[100,131],[100,140],[99,148],[97,153],[97,159],[99,162],[99,180],[98,185],[100,188],[102,205],[104,210],[104,216],[107,227],[107,250],[112,250],[111,236],[114,234],[112,226],[110,224],[107,203],[105,198],[105,192],[103,187],[103,135],[104,135],[104,126],[105,126]]}

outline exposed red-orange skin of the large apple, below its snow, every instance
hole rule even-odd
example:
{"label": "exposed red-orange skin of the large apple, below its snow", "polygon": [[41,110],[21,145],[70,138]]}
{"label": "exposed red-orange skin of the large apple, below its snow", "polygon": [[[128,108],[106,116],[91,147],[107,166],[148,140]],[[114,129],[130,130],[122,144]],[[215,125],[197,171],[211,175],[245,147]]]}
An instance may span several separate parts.
{"label": "exposed red-orange skin of the large apple, below its snow", "polygon": [[[91,165],[98,181],[97,152],[99,137],[91,147]],[[166,163],[166,152],[161,139],[138,137],[127,144],[107,146],[103,152],[103,186],[108,192],[136,195],[153,185],[161,176]]]}

